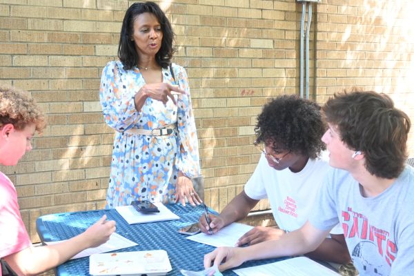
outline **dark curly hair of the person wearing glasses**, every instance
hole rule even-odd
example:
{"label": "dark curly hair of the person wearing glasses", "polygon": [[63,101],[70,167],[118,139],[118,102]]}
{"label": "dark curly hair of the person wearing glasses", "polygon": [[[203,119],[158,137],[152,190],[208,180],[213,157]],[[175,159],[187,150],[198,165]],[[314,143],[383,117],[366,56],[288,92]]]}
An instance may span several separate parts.
{"label": "dark curly hair of the person wearing glasses", "polygon": [[273,99],[257,116],[255,144],[273,145],[275,152],[287,150],[315,159],[325,148],[321,138],[326,125],[320,109],[317,103],[295,95]]}

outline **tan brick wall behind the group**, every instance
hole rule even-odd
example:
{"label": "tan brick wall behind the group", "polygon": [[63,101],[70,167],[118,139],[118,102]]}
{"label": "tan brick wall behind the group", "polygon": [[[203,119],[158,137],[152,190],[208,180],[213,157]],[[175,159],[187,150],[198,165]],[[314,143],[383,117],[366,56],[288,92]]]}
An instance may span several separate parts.
{"label": "tan brick wall behind the group", "polygon": [[[255,117],[269,97],[298,93],[302,5],[294,0],[158,1],[177,33],[175,62],[190,77],[206,203],[221,210],[259,155]],[[48,115],[43,137],[14,181],[32,240],[39,215],[103,208],[112,130],[99,106],[99,77],[116,58],[132,1],[0,0],[0,81],[29,90]],[[407,8],[411,7],[411,8]],[[389,93],[413,117],[410,0],[322,0],[311,29],[311,96],[344,86]],[[413,136],[411,135],[411,140]],[[410,142],[414,156],[414,145]],[[267,208],[266,201],[257,209]]]}

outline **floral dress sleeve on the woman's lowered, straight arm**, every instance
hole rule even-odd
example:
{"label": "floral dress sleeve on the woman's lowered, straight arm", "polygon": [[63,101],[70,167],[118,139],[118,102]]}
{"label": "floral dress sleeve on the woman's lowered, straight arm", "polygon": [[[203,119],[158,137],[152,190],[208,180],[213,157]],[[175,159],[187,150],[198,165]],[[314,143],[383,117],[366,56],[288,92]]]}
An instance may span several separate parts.
{"label": "floral dress sleeve on the woman's lowered, straight arm", "polygon": [[201,175],[201,170],[197,129],[195,128],[193,107],[191,106],[190,88],[188,86],[186,70],[181,66],[173,66],[173,68],[175,79],[179,82],[179,87],[186,91],[186,94],[180,95],[177,101],[177,143],[179,154],[176,166],[184,175],[193,178]]}

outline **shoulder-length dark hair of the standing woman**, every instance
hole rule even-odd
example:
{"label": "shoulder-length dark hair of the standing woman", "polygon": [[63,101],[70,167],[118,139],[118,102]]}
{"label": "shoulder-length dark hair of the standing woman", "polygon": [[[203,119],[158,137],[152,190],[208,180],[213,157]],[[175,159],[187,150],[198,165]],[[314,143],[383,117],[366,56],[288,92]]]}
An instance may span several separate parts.
{"label": "shoulder-length dark hair of the standing woman", "polygon": [[144,12],[154,14],[161,25],[163,37],[161,48],[157,52],[157,55],[155,55],[155,61],[157,61],[158,65],[162,68],[168,68],[172,55],[175,52],[175,48],[172,47],[175,34],[166,14],[164,14],[161,8],[154,2],[133,3],[128,10],[126,10],[124,21],[122,22],[121,37],[119,38],[119,60],[126,70],[130,70],[134,66],[137,66],[139,57],[137,50],[135,50],[135,42],[131,40],[131,37],[134,33],[135,18]]}

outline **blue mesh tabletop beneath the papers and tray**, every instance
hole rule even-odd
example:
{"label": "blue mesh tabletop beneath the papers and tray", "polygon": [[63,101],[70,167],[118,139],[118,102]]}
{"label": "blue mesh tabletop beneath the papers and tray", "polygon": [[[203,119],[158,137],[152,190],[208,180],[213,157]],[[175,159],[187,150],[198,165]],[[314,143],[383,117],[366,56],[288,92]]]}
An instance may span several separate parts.
{"label": "blue mesh tabletop beneath the papers and tray", "polygon": [[[172,266],[172,270],[167,275],[181,275],[179,272],[181,269],[203,270],[204,255],[212,251],[214,247],[190,241],[186,239],[188,236],[179,234],[177,231],[183,226],[197,222],[204,209],[201,206],[184,207],[181,204],[167,207],[180,219],[129,225],[115,209],[61,213],[39,217],[36,221],[37,233],[42,242],[70,239],[82,233],[105,214],[108,220],[117,221],[116,232],[119,235],[138,244],[116,250],[117,252],[163,249],[167,251]],[[279,259],[246,262],[239,268],[268,264],[277,260]],[[56,273],[57,275],[89,275],[89,257],[72,259],[59,266]],[[223,275],[236,274],[228,270]]]}

